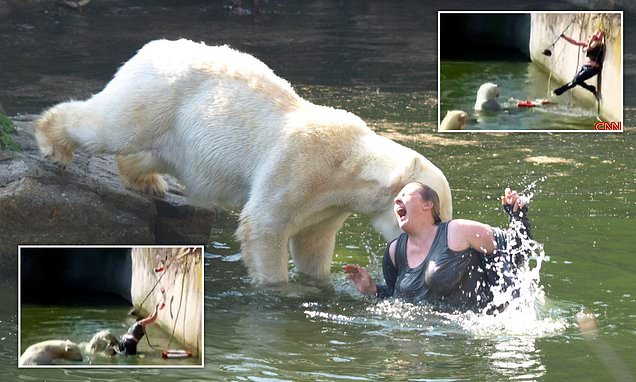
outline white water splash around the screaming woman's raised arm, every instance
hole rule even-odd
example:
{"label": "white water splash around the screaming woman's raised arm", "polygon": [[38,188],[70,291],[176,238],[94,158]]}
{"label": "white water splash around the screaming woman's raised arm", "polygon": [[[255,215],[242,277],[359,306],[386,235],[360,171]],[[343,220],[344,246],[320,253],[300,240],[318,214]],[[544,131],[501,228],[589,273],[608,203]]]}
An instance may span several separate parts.
{"label": "white water splash around the screaming woman's raised arm", "polygon": [[[540,183],[547,177],[541,177],[527,183],[521,190],[522,200],[530,204],[540,188]],[[330,316],[331,321],[355,323],[369,320],[382,326],[401,329],[426,329],[427,331],[458,331],[475,337],[499,338],[500,336],[544,337],[556,335],[572,326],[563,310],[547,301],[541,285],[541,267],[549,258],[543,245],[524,234],[525,228],[519,221],[514,221],[508,228],[508,242],[511,247],[508,255],[517,259],[514,270],[497,269],[500,284],[491,287],[493,301],[484,312],[444,312],[426,305],[413,305],[399,300],[386,300],[368,305],[365,316],[347,319],[341,316]],[[519,241],[519,242],[516,242]],[[371,259],[376,258],[372,248],[367,248]],[[377,263],[372,262],[377,265]],[[507,272],[507,273],[506,273]],[[504,280],[510,282],[505,283]],[[505,309],[497,309],[505,307]],[[369,314],[373,317],[369,317]],[[327,319],[327,317],[322,317]],[[384,322],[383,322],[384,321]],[[439,326],[438,329],[432,328]]]}

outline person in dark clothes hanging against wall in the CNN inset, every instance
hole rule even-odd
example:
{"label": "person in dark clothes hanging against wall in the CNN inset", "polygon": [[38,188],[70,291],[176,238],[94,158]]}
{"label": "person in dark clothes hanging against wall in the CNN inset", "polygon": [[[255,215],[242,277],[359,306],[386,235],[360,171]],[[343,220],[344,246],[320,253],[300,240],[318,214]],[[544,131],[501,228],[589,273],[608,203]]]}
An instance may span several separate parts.
{"label": "person in dark clothes hanging against wall in the CNN inset", "polygon": [[565,91],[572,89],[576,85],[579,85],[588,91],[590,91],[594,96],[597,96],[596,87],[594,85],[588,85],[585,83],[586,80],[594,77],[595,75],[601,72],[603,68],[603,56],[605,55],[605,42],[604,42],[605,34],[603,31],[598,31],[594,33],[587,41],[577,41],[571,37],[568,37],[561,33],[561,37],[565,39],[565,41],[570,44],[578,45],[583,47],[585,50],[585,63],[581,67],[581,69],[576,73],[574,79],[567,84],[554,89],[554,95],[561,95]]}

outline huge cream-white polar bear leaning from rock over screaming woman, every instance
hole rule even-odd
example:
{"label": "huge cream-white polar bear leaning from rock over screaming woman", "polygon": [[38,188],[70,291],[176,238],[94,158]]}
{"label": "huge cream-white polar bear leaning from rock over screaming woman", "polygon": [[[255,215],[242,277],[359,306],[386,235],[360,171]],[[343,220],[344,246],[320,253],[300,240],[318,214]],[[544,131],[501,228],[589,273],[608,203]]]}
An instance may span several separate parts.
{"label": "huge cream-white polar bear leaning from rock over screaming woman", "polygon": [[227,46],[157,40],[86,101],[58,104],[37,122],[42,153],[60,164],[73,150],[116,154],[123,182],[161,195],[159,173],[195,204],[241,208],[237,239],[253,282],[297,270],[329,276],[336,233],[365,214],[389,240],[400,233],[393,198],[422,182],[452,215],[442,171],[375,134],[357,116],[312,104],[255,57]]}

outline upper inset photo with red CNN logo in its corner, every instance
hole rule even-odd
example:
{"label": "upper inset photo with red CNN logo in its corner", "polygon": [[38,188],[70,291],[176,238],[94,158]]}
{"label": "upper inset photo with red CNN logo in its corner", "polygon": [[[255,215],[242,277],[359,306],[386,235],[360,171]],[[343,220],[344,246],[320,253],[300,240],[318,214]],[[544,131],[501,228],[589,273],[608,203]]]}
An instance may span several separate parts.
{"label": "upper inset photo with red CNN logo in its corner", "polygon": [[622,12],[438,12],[438,131],[622,132]]}

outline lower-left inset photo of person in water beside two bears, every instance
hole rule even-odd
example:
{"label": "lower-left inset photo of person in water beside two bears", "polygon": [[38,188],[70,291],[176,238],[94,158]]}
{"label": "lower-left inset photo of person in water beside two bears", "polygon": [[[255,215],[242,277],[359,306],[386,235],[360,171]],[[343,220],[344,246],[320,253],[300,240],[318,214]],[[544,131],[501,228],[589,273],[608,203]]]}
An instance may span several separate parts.
{"label": "lower-left inset photo of person in water beside two bears", "polygon": [[20,246],[19,367],[203,367],[202,246]]}

